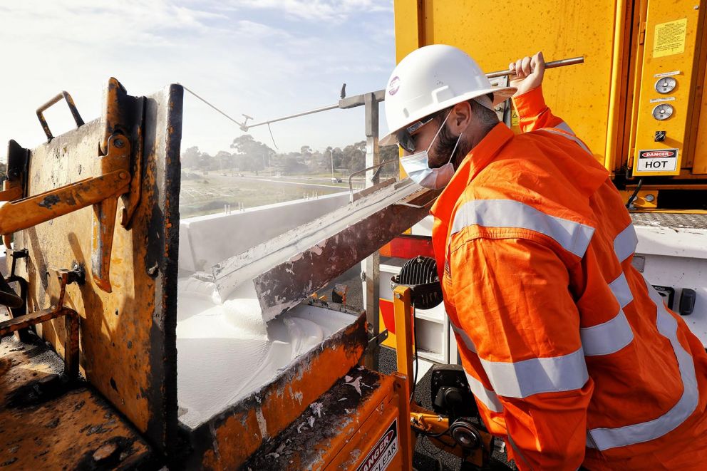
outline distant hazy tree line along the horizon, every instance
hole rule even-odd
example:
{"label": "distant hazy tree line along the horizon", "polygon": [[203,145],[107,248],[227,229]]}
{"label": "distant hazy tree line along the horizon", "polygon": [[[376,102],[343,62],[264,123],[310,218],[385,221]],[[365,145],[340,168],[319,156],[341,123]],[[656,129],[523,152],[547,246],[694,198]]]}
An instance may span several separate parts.
{"label": "distant hazy tree line along the horizon", "polygon": [[[366,141],[345,147],[326,147],[313,150],[309,145],[301,146],[299,152],[276,152],[268,145],[244,134],[235,138],[230,151],[220,150],[215,155],[201,152],[199,147],[188,147],[182,151],[182,169],[215,170],[221,172],[262,172],[272,169],[283,175],[306,173],[331,173],[348,175],[366,167]],[[380,148],[381,162],[398,156],[398,147],[388,145]],[[392,168],[392,166],[391,166]],[[388,169],[386,173],[391,173]]]}

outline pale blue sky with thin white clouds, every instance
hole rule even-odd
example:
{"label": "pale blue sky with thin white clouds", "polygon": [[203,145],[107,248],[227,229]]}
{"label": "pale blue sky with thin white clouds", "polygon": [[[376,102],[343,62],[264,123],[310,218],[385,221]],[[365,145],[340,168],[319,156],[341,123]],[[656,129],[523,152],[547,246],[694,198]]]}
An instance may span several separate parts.
{"label": "pale blue sky with thin white clouds", "polygon": [[[36,108],[61,90],[83,120],[103,87],[131,95],[182,83],[238,120],[331,105],[385,88],[395,66],[393,0],[1,0],[0,143],[46,140]],[[45,113],[54,135],[73,127],[63,102]],[[249,131],[280,152],[366,138],[363,108],[331,110]],[[381,105],[381,135],[386,133]],[[185,93],[182,150],[229,150],[242,131]],[[4,149],[0,151],[5,158]]]}

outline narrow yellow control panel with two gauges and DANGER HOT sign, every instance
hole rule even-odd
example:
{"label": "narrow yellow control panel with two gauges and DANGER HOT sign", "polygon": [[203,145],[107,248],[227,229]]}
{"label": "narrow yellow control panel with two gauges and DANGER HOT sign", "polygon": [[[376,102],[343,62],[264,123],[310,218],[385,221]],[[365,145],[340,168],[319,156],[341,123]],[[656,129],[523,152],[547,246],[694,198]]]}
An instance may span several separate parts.
{"label": "narrow yellow control panel with two gauges and DANGER HOT sign", "polygon": [[645,37],[639,40],[643,60],[631,145],[634,176],[679,175],[685,167],[699,42],[695,6],[688,1],[648,3]]}

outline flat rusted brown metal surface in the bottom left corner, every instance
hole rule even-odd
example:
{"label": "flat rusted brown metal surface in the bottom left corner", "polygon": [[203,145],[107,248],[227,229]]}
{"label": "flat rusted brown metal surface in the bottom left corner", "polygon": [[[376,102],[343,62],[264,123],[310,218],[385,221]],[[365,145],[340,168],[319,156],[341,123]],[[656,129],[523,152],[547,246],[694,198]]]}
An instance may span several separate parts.
{"label": "flat rusted brown metal surface in the bottom left corner", "polygon": [[66,383],[41,341],[0,343],[0,468],[159,467],[149,445],[86,383]]}

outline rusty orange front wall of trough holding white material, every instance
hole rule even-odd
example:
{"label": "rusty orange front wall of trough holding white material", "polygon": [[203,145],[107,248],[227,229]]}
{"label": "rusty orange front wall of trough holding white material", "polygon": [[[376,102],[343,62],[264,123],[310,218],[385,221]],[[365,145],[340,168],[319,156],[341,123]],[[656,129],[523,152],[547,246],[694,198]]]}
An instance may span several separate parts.
{"label": "rusty orange front wall of trough holding white material", "polygon": [[[328,309],[339,306],[321,305]],[[361,314],[354,324],[299,358],[274,381],[207,423],[193,430],[182,425],[192,449],[182,465],[207,470],[242,467],[264,442],[277,437],[356,365],[366,345],[365,321],[365,314]]]}

